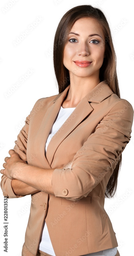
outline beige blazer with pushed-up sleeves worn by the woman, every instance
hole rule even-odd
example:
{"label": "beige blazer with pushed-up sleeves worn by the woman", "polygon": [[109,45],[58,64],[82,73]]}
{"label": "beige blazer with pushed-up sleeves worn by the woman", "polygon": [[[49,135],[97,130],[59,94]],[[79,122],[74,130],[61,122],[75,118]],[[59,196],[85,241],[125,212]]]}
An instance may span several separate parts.
{"label": "beige blazer with pushed-up sleeves worn by the woman", "polygon": [[[47,137],[69,88],[39,99],[15,141],[14,150],[28,164],[55,168],[55,195],[42,191],[31,195],[25,246],[33,255],[37,254],[44,220],[56,256],[78,256],[118,246],[104,210],[104,193],[130,140],[133,108],[100,82],[52,137],[45,157]],[[72,160],[72,168],[64,168]],[[5,175],[1,186],[9,198],[20,197]],[[31,254],[23,249],[22,255]]]}

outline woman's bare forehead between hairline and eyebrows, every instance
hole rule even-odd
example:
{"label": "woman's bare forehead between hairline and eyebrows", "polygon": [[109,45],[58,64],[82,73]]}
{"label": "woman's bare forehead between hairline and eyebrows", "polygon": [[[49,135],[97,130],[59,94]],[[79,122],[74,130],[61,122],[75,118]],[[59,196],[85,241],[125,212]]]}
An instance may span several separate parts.
{"label": "woman's bare forehead between hairline and eyebrows", "polygon": [[75,21],[70,32],[77,33],[78,31],[87,31],[87,32],[90,31],[93,34],[95,32],[101,32],[103,35],[102,26],[99,24],[96,18],[91,18],[91,17],[83,17]]}

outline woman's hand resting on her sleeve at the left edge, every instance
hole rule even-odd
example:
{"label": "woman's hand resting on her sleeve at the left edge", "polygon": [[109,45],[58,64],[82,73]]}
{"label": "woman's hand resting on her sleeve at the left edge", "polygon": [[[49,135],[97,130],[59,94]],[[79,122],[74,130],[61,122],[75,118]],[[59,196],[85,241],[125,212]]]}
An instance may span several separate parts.
{"label": "woman's hand resting on her sleeve at the left edge", "polygon": [[15,153],[13,149],[9,150],[10,157],[5,157],[5,163],[0,173],[6,175],[9,179],[15,179],[16,173],[22,170],[23,164],[27,164],[25,161],[21,160],[19,155]]}

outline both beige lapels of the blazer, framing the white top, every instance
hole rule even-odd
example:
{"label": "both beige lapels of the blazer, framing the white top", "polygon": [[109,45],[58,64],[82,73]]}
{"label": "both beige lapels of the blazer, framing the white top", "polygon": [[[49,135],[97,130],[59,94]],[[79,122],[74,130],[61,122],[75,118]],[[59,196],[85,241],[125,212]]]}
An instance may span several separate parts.
{"label": "both beige lapels of the blazer, framing the white top", "polygon": [[[81,123],[87,115],[89,115],[93,108],[90,102],[100,103],[105,98],[113,94],[110,87],[103,81],[100,82],[93,90],[91,90],[76,106],[69,118],[63,123],[56,134],[51,138],[45,157],[45,144],[51,130],[51,127],[59,112],[62,101],[64,100],[66,93],[68,92],[70,85],[52,101],[52,105],[48,108],[38,134],[35,138],[35,143],[40,145],[38,151],[39,159],[43,161],[47,159],[49,165],[52,163],[53,156],[60,145],[60,143],[75,129],[75,127]],[[49,168],[49,167],[48,167]]]}

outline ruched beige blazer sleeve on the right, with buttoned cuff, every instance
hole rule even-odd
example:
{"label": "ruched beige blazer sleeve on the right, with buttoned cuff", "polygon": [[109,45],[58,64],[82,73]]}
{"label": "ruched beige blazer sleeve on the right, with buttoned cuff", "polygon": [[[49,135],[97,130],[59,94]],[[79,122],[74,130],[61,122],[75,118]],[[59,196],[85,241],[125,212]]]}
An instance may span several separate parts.
{"label": "ruched beige blazer sleeve on the right, with buttoned cuff", "polygon": [[77,151],[72,167],[53,171],[55,196],[74,201],[86,197],[109,170],[115,169],[120,154],[130,141],[132,122],[131,104],[120,100]]}

